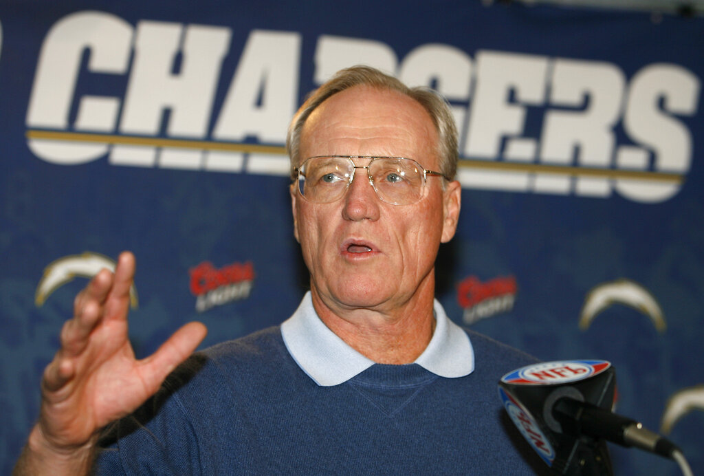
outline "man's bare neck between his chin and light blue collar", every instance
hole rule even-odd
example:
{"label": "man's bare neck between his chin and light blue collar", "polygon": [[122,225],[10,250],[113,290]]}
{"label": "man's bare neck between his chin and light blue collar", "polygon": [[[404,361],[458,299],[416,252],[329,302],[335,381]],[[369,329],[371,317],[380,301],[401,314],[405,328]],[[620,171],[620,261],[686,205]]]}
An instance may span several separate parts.
{"label": "man's bare neck between his chin and light blue collar", "polygon": [[425,351],[435,330],[434,286],[418,291],[390,311],[334,306],[315,287],[311,296],[320,320],[353,349],[376,363],[405,364]]}

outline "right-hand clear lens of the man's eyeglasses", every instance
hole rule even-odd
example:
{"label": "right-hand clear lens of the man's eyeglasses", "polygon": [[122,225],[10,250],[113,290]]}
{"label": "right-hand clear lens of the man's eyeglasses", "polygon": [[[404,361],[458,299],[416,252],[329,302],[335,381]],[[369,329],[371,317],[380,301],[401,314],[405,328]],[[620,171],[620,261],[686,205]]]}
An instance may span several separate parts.
{"label": "right-hand clear lens of the man's eyeglasses", "polygon": [[375,158],[369,174],[379,199],[395,205],[408,205],[423,192],[423,170],[409,158]]}

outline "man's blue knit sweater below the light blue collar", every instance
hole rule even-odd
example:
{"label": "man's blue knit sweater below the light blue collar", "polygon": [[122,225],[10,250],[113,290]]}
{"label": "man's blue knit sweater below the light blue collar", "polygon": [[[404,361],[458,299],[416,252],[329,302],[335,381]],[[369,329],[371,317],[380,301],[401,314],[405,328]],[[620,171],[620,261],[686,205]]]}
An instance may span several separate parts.
{"label": "man's blue knit sweater below the light blue collar", "polygon": [[279,327],[191,357],[106,432],[106,475],[526,475],[545,465],[506,418],[502,375],[534,362],[470,334],[477,368],[438,377],[375,364],[320,387]]}

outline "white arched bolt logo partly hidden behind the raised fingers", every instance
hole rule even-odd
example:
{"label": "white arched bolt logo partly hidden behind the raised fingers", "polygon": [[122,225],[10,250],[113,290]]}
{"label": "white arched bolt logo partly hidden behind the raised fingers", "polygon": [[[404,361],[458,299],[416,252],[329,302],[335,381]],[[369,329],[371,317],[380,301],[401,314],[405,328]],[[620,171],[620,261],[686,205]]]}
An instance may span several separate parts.
{"label": "white arched bolt logo partly hidden behind the raised fingers", "polygon": [[[114,260],[99,253],[86,251],[80,255],[64,256],[44,268],[44,275],[39,280],[37,292],[34,294],[34,303],[43,306],[46,298],[64,284],[73,281],[75,277],[92,278],[100,270],[115,271]],[[137,307],[137,289],[132,284],[130,287],[130,305]]]}

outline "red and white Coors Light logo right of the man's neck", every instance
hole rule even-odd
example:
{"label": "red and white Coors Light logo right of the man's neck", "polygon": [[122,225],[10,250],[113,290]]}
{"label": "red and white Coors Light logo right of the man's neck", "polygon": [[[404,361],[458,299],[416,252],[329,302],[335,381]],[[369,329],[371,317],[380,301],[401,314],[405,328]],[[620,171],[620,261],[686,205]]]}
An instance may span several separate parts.
{"label": "red and white Coors Light logo right of the man's neck", "polygon": [[457,301],[464,309],[463,321],[472,324],[513,309],[516,300],[516,278],[497,277],[481,282],[478,277],[465,278],[457,286]]}

